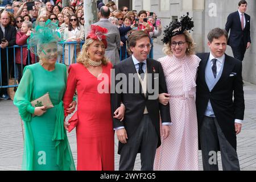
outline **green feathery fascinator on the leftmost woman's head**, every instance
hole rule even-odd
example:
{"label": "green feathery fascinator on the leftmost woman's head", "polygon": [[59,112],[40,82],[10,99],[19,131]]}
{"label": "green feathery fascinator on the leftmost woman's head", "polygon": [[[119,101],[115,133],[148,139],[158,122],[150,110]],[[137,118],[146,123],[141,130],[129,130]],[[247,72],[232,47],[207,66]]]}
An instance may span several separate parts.
{"label": "green feathery fascinator on the leftmost woman's head", "polygon": [[42,45],[56,43],[57,46],[57,43],[61,40],[58,29],[58,23],[53,23],[49,19],[46,23],[36,25],[35,30],[31,32],[30,37],[27,39],[27,48],[35,55],[38,55],[38,52],[46,54]]}

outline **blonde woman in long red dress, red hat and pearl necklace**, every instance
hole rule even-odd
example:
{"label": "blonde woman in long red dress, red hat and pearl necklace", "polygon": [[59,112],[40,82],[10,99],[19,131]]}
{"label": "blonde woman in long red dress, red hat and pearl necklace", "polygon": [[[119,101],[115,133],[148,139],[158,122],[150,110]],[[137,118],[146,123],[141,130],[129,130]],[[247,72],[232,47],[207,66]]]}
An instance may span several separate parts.
{"label": "blonde woman in long red dress, red hat and pearl necklace", "polygon": [[[114,130],[112,116],[123,118],[125,107],[112,114],[110,103],[110,71],[112,64],[104,57],[108,30],[91,26],[76,64],[68,70],[64,96],[65,117],[71,114],[71,103],[77,90],[77,112],[64,123],[69,132],[76,127],[77,170],[114,170]],[[103,86],[102,86],[103,85]]]}

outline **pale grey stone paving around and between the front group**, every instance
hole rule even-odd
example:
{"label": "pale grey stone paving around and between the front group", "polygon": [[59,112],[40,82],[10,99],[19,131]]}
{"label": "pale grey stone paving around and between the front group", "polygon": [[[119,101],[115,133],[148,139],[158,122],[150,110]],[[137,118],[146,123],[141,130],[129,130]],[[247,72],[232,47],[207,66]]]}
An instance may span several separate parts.
{"label": "pale grey stone paving around and between the front group", "polygon": [[[162,57],[162,46],[154,45],[154,57]],[[237,138],[237,151],[242,170],[256,170],[256,85],[245,83],[245,122],[242,133]],[[77,162],[75,131],[68,134],[75,163]],[[117,139],[115,138],[115,170],[118,170],[119,155],[117,154]],[[23,136],[18,109],[12,101],[0,100],[0,171],[21,169],[23,154]],[[202,170],[201,152],[199,166]],[[221,168],[220,155],[218,162]],[[134,170],[141,168],[140,157],[137,156]]]}

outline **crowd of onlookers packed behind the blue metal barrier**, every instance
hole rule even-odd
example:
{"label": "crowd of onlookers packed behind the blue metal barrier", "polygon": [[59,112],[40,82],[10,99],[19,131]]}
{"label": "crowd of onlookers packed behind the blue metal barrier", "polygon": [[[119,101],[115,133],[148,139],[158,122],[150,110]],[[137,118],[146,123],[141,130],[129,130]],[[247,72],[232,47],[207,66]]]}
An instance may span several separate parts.
{"label": "crowd of onlookers packed behind the blue metal barrier", "polygon": [[[127,47],[129,45],[127,43],[127,38],[131,34],[131,32],[135,30],[144,30],[147,31],[148,34],[150,34],[151,38],[156,38],[156,36],[160,36],[160,34],[162,33],[161,25],[158,24],[156,26],[155,24],[155,14],[150,16],[150,12],[147,11],[141,11],[139,12],[139,14],[137,14],[137,11],[129,11],[129,9],[125,6],[121,7],[120,10],[117,10],[117,7],[115,6],[113,1],[110,1],[108,2],[108,4],[106,4],[108,10],[105,9],[100,12],[102,6],[104,6],[104,3],[98,1],[98,19],[109,19],[110,22],[117,26],[117,28],[112,27],[113,31],[109,31],[109,34],[112,34],[113,32],[115,36],[113,38],[108,37],[109,47],[108,49],[106,49],[106,56],[110,60],[112,60],[113,64],[119,63],[119,54],[121,54],[121,60],[124,60],[126,59],[126,57],[129,57],[129,55],[131,55],[131,53],[127,51],[129,50],[129,48]],[[1,39],[5,38],[7,42],[12,42],[11,44],[8,44],[8,47],[14,45],[26,45],[27,39],[29,38],[31,32],[34,31],[35,26],[40,23],[45,23],[48,19],[50,19],[52,22],[58,24],[57,29],[61,34],[61,41],[77,42],[77,45],[65,44],[64,55],[62,55],[63,52],[60,51],[58,61],[63,62],[65,65],[75,63],[75,59],[79,55],[81,49],[80,42],[85,40],[85,13],[83,1],[73,0],[71,1],[70,6],[65,7],[62,6],[61,0],[36,0],[34,1],[34,6],[32,7],[28,1],[13,1],[12,3],[10,3],[10,5],[5,6],[5,9],[1,12],[1,14],[3,14],[3,16],[8,16],[8,18],[5,19],[7,23],[1,23],[3,27],[15,27],[15,31],[11,31],[11,36],[1,36]],[[138,18],[140,22],[138,27],[135,26],[136,18]],[[143,18],[147,18],[147,21],[143,22]],[[108,22],[101,24],[101,26],[108,26],[107,24]],[[18,81],[20,81],[23,68],[26,65],[34,64],[36,57],[32,53],[30,53],[26,49],[26,47],[23,47],[22,51],[18,48],[16,48],[16,50],[17,51],[15,51],[15,63],[17,65],[14,66],[12,61],[9,61],[9,73],[11,73],[11,77],[15,77]],[[20,56],[20,52],[22,52],[22,56]],[[8,55],[9,60],[14,59],[13,50],[10,49]],[[5,59],[3,56],[2,58]],[[62,59],[64,59],[64,61]],[[6,65],[2,65],[2,69],[5,69],[5,67]],[[3,85],[8,85],[6,75],[7,72],[5,72],[6,71],[3,70]],[[1,98],[5,100],[9,99],[6,89],[1,92]]]}

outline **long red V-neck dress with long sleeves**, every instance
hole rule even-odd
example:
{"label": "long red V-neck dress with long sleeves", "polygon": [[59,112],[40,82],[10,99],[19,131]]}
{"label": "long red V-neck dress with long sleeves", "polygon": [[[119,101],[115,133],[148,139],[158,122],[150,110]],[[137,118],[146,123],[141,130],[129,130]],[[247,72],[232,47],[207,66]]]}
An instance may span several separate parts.
{"label": "long red V-neck dress with long sleeves", "polygon": [[[77,89],[77,170],[113,171],[114,170],[114,130],[110,103],[110,70],[112,64],[102,66],[98,80],[84,65],[77,63],[69,66],[67,90],[64,95],[64,109],[72,102]],[[107,93],[99,93],[102,84]],[[102,88],[102,86],[101,86]],[[67,116],[67,113],[65,113]]]}

